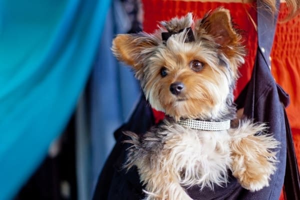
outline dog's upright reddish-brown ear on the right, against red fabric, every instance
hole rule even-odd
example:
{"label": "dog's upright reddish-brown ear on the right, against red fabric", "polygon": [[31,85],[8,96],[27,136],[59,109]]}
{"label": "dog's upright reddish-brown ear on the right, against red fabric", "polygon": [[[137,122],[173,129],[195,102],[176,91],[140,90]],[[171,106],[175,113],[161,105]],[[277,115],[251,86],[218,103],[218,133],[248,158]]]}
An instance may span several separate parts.
{"label": "dog's upright reddish-brown ear on the right, against red fabric", "polygon": [[217,8],[208,12],[197,22],[195,29],[199,35],[210,35],[229,58],[236,53],[244,54],[241,35],[232,25],[229,10]]}

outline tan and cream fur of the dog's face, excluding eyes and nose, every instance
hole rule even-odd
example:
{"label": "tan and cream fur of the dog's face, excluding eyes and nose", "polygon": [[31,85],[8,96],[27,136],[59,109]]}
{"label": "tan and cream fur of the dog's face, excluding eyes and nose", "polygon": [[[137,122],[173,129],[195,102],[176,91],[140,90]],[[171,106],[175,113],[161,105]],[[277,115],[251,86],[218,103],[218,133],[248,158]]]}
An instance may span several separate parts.
{"label": "tan and cream fur of the dog's face, excluding eyes and nose", "polygon": [[[217,115],[219,110],[217,106],[225,100],[229,92],[226,85],[231,80],[224,76],[222,67],[214,61],[214,52],[199,45],[177,44],[172,39],[168,42],[174,43],[171,45],[172,48],[166,47],[165,51],[155,54],[151,59],[151,68],[145,75],[147,79],[144,85],[145,96],[152,107],[176,119],[196,118],[200,117],[199,114],[209,115],[209,117]],[[181,49],[176,50],[175,45],[180,45]],[[189,62],[193,59],[203,60],[210,67],[204,66],[201,73],[195,75],[195,72],[189,68]],[[161,66],[167,67],[169,74],[163,79],[157,73]],[[186,89],[179,96],[179,98],[186,98],[185,101],[177,101],[178,96],[173,96],[169,92],[169,87],[165,86],[175,81],[182,81],[186,85]],[[214,93],[219,95],[213,95]],[[216,107],[215,110],[209,111],[213,107]]]}

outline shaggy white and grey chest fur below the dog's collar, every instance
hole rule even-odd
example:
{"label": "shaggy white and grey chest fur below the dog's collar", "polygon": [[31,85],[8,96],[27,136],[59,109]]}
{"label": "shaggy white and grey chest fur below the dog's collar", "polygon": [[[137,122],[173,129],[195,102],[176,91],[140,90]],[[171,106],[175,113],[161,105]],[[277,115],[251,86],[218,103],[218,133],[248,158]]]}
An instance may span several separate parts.
{"label": "shaggy white and grey chest fur below the dog's collar", "polygon": [[231,163],[229,142],[227,130],[195,130],[165,120],[134,143],[139,147],[129,153],[128,162],[142,170],[163,169],[161,173],[176,176],[182,186],[224,186]]}

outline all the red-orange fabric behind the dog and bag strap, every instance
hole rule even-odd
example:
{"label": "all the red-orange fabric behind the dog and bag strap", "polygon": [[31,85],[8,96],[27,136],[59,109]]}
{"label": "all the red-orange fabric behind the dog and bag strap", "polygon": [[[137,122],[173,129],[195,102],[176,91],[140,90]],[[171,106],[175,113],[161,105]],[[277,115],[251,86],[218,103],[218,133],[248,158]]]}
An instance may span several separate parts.
{"label": "all the red-orange fabric behind the dog and bag strap", "polygon": [[[173,16],[182,16],[187,12],[193,12],[196,17],[202,17],[210,9],[222,6],[230,10],[233,22],[243,30],[244,44],[248,49],[239,71],[241,77],[238,79],[234,96],[237,96],[244,88],[251,76],[257,49],[257,33],[245,10],[256,22],[256,9],[250,3],[225,3],[225,2],[199,2],[178,0],[142,0],[144,10],[143,29],[153,32],[157,22],[168,20]],[[284,3],[280,4],[279,19],[284,18],[287,13]],[[273,48],[271,51],[271,72],[276,82],[290,95],[290,105],[286,112],[290,122],[295,145],[298,166],[300,167],[300,122],[297,118],[300,113],[300,15],[286,23],[277,23]],[[265,110],[267,111],[267,110]],[[154,112],[154,117],[163,118],[162,112]],[[281,192],[280,199],[283,198]]]}

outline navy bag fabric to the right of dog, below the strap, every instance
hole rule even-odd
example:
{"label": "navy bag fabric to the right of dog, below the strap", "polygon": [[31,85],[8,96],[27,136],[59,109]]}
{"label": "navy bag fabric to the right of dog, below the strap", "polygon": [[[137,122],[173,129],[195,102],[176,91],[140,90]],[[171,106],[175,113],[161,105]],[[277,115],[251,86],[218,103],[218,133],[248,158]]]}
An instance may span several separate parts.
{"label": "navy bag fabric to the right of dog, below the strap", "polygon": [[278,199],[280,196],[286,159],[284,106],[280,99],[288,102],[288,95],[283,93],[282,89],[278,90],[278,87],[258,50],[256,64],[243,101],[244,114],[255,121],[266,122],[269,133],[281,144],[280,148],[276,149],[279,162],[275,174],[271,176],[270,185],[257,192],[245,191],[241,196],[242,199]]}

